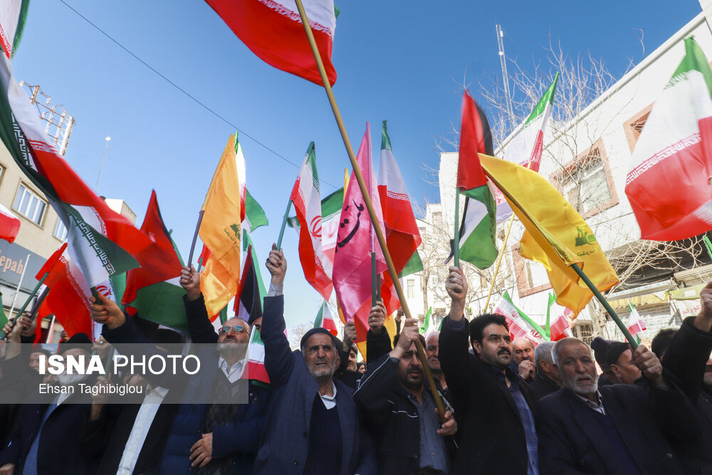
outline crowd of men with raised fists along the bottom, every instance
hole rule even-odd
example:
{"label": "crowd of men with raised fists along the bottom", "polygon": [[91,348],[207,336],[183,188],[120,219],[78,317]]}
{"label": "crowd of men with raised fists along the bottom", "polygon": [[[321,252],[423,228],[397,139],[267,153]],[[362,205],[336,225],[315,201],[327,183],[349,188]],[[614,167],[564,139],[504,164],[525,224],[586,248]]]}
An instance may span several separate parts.
{"label": "crowd of men with raised fists along the bottom", "polygon": [[[122,375],[145,388],[142,400],[108,404],[110,395],[63,392],[50,404],[37,402],[38,382],[66,387],[85,379],[47,379],[36,372],[46,350],[8,344],[0,368],[31,370],[21,380],[0,380],[27,401],[1,404],[0,475],[712,473],[712,283],[701,292],[699,315],[679,330],[661,330],[651,350],[602,338],[592,348],[577,338],[535,348],[525,338],[511,341],[501,315],[468,321],[468,284],[450,267],[451,308],[441,330],[424,338],[417,320],[404,319],[392,341],[386,310],[376,303],[363,365],[353,323],[342,340],[313,328],[290,349],[287,263],[274,246],[266,267],[263,314],[231,318],[218,332],[199,273],[183,269],[189,337],[214,344],[204,359],[209,370],[179,384],[164,375]],[[125,354],[182,343],[179,333],[129,317],[103,296],[90,315],[103,324],[94,345],[101,354],[110,345]],[[268,385],[242,377],[240,348],[255,331]],[[22,333],[31,330],[11,339]],[[82,343],[87,335],[73,335],[59,352],[88,354]],[[219,402],[192,402],[207,393]]]}

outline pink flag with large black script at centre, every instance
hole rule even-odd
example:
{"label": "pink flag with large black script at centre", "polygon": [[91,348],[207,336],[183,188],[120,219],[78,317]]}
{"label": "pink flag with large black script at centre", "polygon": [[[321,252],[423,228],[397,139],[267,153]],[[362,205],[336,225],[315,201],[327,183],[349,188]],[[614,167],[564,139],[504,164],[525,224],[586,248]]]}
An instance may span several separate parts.
{"label": "pink flag with large black script at centre", "polygon": [[[361,141],[356,161],[361,169],[363,179],[370,189],[371,202],[378,217],[378,224],[383,229],[381,202],[378,196],[376,177],[371,167],[371,128],[368,122],[366,122],[366,132]],[[341,209],[333,271],[336,297],[347,321],[354,320],[359,308],[367,301],[370,302],[371,249],[371,220],[355,174],[352,172],[344,197],[344,207]],[[378,244],[374,246],[374,249],[376,252],[376,273],[381,273],[387,268],[386,261]],[[355,319],[356,341],[366,340],[367,315],[368,313],[366,313],[366,318]]]}

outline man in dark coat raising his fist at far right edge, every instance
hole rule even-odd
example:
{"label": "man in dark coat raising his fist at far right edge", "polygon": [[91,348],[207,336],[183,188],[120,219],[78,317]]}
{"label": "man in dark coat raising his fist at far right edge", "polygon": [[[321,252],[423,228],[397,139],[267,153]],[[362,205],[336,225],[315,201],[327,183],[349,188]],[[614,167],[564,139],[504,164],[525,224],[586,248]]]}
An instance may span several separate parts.
{"label": "man in dark coat raising his fist at far right edge", "polygon": [[674,378],[692,402],[701,437],[682,447],[686,473],[712,473],[712,283],[700,292],[701,310],[686,318],[679,330],[661,330],[652,348],[659,353],[667,375]]}

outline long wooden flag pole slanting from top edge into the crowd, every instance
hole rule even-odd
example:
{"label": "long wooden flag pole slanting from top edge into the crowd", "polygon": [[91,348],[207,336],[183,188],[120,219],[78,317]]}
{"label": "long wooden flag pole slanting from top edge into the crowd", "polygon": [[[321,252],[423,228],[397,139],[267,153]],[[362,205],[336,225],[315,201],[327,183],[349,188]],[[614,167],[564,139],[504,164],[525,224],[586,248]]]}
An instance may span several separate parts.
{"label": "long wooden flag pole slanting from top edge into the crowd", "polygon": [[[316,41],[314,39],[314,33],[311,30],[311,26],[309,24],[309,19],[307,18],[307,14],[304,11],[304,6],[302,4],[302,0],[295,0],[295,3],[297,4],[297,9],[299,10],[299,16],[302,20],[302,25],[304,26],[304,31],[307,35],[308,40],[309,40],[309,46],[311,47],[312,53],[314,55],[314,61],[316,61],[317,68],[319,69],[319,75],[321,76],[321,80],[324,85],[324,90],[326,92],[327,97],[329,98],[329,103],[331,105],[331,109],[333,110],[334,118],[336,119],[336,123],[339,127],[339,132],[341,133],[341,138],[344,141],[344,146],[346,147],[346,152],[349,156],[349,160],[351,162],[351,167],[353,168],[353,172],[355,174],[356,181],[358,182],[359,189],[361,190],[361,194],[362,194],[363,200],[366,204],[366,208],[368,209],[368,214],[371,218],[371,223],[373,224],[373,229],[376,233],[376,238],[378,239],[378,244],[379,244],[379,246],[381,246],[381,250],[383,251],[383,257],[384,257],[386,264],[388,266],[388,272],[390,273],[391,280],[393,281],[393,285],[396,288],[396,293],[398,294],[398,298],[401,302],[401,306],[403,308],[403,312],[405,313],[405,317],[412,318],[410,309],[408,308],[408,303],[405,300],[403,288],[400,285],[400,282],[398,281],[398,273],[396,272],[396,268],[393,265],[393,260],[391,259],[391,255],[388,252],[388,246],[386,244],[386,239],[383,236],[381,226],[378,224],[378,219],[376,216],[376,212],[373,209],[373,203],[371,202],[371,198],[368,193],[368,188],[366,187],[366,183],[364,182],[363,175],[361,174],[361,170],[358,167],[358,162],[356,162],[356,155],[354,154],[353,147],[351,146],[351,142],[349,140],[349,136],[346,132],[346,127],[345,127],[344,122],[341,118],[341,113],[339,112],[339,106],[336,104],[336,99],[334,98],[334,93],[331,90],[331,85],[329,84],[329,79],[326,75],[324,63],[323,63],[323,61],[321,61],[321,55],[319,53],[319,48],[316,45]],[[438,417],[442,424],[442,423],[444,423],[444,420],[445,420],[445,407],[444,407],[443,402],[440,399],[440,396],[438,394],[437,388],[435,386],[435,380],[433,379],[433,375],[430,372],[430,367],[428,366],[428,360],[425,355],[425,348],[423,348],[423,345],[420,343],[420,339],[415,340],[415,345],[418,350],[418,356],[419,356],[420,361],[422,362],[422,365],[423,365],[423,372],[425,374],[428,384],[430,385],[430,390],[433,395],[433,400],[435,401],[435,404],[438,409]]]}

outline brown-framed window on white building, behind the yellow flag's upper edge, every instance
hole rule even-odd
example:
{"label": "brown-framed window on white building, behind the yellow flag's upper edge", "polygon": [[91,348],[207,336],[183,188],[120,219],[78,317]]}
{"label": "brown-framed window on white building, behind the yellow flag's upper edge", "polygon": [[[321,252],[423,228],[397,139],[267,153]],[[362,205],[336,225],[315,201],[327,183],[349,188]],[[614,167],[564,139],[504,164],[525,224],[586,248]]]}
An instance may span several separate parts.
{"label": "brown-framed window on white building, behind the yellow flag's upper edge", "polygon": [[553,177],[564,197],[583,217],[618,204],[603,141],[598,140]]}

